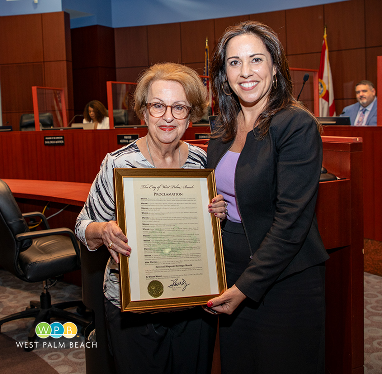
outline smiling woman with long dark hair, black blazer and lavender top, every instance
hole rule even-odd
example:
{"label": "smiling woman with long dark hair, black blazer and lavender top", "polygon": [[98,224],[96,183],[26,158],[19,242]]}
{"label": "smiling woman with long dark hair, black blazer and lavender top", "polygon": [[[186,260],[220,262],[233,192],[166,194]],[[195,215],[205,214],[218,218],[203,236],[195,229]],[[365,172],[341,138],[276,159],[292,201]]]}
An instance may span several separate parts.
{"label": "smiling woman with long dark hair, black blazer and lavender top", "polygon": [[211,78],[220,114],[207,167],[219,195],[209,211],[224,219],[229,288],[207,305],[220,313],[222,373],[323,373],[319,124],[293,97],[283,47],[264,24],[225,31]]}

